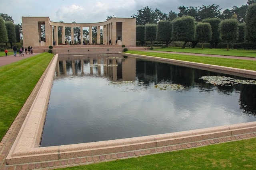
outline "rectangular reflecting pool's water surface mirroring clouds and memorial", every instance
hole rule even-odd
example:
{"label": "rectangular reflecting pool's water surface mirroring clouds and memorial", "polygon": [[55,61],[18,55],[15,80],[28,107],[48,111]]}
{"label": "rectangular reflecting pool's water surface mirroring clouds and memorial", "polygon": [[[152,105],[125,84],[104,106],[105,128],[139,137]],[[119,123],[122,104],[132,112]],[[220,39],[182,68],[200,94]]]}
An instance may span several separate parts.
{"label": "rectangular reflecting pool's water surface mirroring clouds and memorial", "polygon": [[[220,86],[199,79],[248,78],[133,57],[107,59],[111,57],[123,58],[59,56],[41,147],[256,121],[256,85]],[[185,89],[162,90],[159,84]]]}

